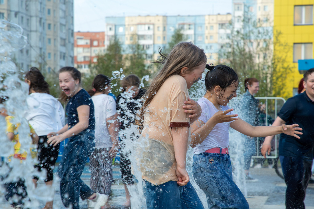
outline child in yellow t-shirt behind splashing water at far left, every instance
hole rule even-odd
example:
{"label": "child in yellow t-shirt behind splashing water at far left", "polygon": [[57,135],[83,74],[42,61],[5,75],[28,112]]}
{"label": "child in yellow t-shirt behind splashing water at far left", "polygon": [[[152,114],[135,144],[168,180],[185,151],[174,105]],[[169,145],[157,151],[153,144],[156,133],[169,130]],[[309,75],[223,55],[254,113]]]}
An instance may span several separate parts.
{"label": "child in yellow t-shirt behind splashing water at far left", "polygon": [[[9,140],[15,143],[14,154],[8,157],[8,162],[11,162],[12,158],[15,158],[15,159],[20,159],[22,163],[23,160],[26,160],[27,152],[26,150],[23,150],[23,147],[21,147],[21,143],[19,142],[18,128],[20,126],[20,123],[17,123],[17,124],[12,123],[13,116],[7,115],[5,119],[7,122],[7,137]],[[32,138],[32,143],[37,144],[38,136],[31,126],[30,126],[30,137]],[[19,206],[20,208],[23,208],[24,202],[29,201],[29,198],[27,197],[26,186],[24,184],[23,178],[19,178],[17,181],[14,181],[14,182],[5,183],[4,187],[6,188],[5,199],[9,201],[9,203],[12,206],[14,207]]]}

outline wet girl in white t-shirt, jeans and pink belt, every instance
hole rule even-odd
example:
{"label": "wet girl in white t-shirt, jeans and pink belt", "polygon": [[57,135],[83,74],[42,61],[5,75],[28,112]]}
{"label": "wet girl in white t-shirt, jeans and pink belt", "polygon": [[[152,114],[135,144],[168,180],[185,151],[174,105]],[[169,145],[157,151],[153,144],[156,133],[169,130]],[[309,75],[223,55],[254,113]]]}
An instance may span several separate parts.
{"label": "wet girl in white t-shirt, jeans and pink belt", "polygon": [[[236,97],[238,76],[225,65],[210,66],[205,77],[206,93],[198,100],[202,114],[191,125],[193,177],[205,192],[208,208],[246,209],[249,205],[232,180],[229,156],[229,127],[250,137],[285,133],[302,134],[297,124],[290,126],[251,126],[234,114],[227,104]],[[245,146],[245,145],[244,145]]]}

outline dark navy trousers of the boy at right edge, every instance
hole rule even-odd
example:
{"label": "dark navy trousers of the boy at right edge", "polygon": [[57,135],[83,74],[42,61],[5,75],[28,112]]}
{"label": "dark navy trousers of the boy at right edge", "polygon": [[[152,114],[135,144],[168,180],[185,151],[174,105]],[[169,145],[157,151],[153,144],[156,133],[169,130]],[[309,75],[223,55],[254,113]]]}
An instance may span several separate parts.
{"label": "dark navy trousers of the boy at right edge", "polygon": [[279,156],[286,182],[286,209],[304,209],[307,185],[311,178],[312,161]]}

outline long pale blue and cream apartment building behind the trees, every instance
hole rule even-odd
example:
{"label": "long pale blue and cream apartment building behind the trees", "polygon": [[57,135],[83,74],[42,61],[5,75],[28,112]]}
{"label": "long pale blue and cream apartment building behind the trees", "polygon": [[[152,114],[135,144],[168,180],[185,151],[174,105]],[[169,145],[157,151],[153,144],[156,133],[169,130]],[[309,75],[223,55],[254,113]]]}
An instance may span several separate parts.
{"label": "long pale blue and cream apartment building behind the trees", "polygon": [[175,30],[181,29],[187,41],[203,48],[208,61],[217,64],[218,50],[224,43],[218,41],[230,35],[230,29],[225,26],[231,17],[231,14],[106,17],[105,42],[108,46],[110,39],[116,36],[127,54],[136,37],[146,51],[147,65],[150,65],[149,62],[159,57],[158,51],[168,47]]}

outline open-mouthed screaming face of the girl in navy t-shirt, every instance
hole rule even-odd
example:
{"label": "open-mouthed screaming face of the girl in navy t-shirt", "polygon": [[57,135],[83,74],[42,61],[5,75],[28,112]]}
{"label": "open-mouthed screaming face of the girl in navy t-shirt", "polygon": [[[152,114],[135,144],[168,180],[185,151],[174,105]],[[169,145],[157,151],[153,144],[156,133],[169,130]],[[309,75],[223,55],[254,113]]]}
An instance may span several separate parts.
{"label": "open-mouthed screaming face of the girl in navy t-shirt", "polygon": [[71,73],[60,72],[59,73],[59,86],[68,97],[73,97],[77,93],[79,88],[79,80],[74,80]]}

